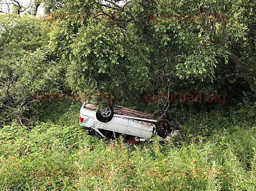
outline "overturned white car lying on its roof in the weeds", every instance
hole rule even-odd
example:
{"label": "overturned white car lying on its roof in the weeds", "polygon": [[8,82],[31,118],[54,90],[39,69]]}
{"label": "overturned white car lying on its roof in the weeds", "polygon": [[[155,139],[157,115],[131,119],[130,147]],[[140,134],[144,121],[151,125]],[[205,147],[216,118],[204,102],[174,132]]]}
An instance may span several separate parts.
{"label": "overturned white car lying on its roof in the weeds", "polygon": [[156,135],[161,141],[168,141],[180,132],[180,124],[170,120],[164,111],[152,115],[108,104],[103,111],[96,111],[93,104],[83,104],[80,110],[81,126],[94,129],[104,138],[109,133],[131,135],[140,141],[147,141]]}

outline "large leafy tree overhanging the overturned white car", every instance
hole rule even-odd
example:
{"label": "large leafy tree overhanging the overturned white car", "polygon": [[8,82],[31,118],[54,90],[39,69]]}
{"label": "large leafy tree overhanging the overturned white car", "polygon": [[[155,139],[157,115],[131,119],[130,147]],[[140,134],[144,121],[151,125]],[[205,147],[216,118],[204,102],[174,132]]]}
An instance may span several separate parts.
{"label": "large leafy tree overhanging the overturned white car", "polygon": [[[230,65],[227,72],[234,72],[232,65],[236,65],[254,88],[252,75],[234,48],[245,38],[246,24],[239,21],[242,5],[243,1],[129,1],[122,5],[67,1],[57,12],[92,11],[93,19],[97,11],[107,16],[115,13],[116,22],[54,23],[51,49],[66,64],[73,91],[106,89],[122,97],[167,89],[200,90],[202,84],[203,89],[217,90],[211,84],[221,81],[216,75],[223,64]],[[216,14],[217,20],[208,18]],[[167,15],[178,16],[167,22]],[[198,15],[200,22],[184,22],[180,15]]]}

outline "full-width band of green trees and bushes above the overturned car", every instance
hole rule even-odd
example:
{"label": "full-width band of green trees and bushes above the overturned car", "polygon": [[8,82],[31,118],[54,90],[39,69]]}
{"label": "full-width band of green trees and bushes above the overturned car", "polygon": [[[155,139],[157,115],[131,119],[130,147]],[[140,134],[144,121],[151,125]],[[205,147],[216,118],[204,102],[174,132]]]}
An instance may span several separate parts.
{"label": "full-width band of green trees and bushes above the overturned car", "polygon": [[2,108],[36,106],[36,91],[104,89],[134,102],[199,91],[241,102],[255,91],[254,1],[44,0],[21,6],[23,16],[21,2],[9,3],[12,13],[0,15]]}

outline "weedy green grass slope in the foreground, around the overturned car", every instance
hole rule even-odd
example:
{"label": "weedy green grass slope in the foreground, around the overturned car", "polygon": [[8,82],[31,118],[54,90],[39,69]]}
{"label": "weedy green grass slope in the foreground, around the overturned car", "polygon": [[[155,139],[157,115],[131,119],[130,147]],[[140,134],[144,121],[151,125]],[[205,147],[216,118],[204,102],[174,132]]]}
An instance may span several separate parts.
{"label": "weedy green grass slope in the foreground, around the overturned car", "polygon": [[80,106],[53,103],[32,130],[0,130],[1,190],[255,189],[255,106],[191,116],[168,144],[132,146],[89,136]]}

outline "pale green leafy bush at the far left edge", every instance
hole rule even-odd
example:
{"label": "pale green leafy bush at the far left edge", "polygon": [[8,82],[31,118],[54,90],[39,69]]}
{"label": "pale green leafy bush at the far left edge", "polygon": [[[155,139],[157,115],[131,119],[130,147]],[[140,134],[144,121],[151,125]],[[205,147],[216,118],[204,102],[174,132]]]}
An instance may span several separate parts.
{"label": "pale green leafy bush at the far left edge", "polygon": [[33,100],[38,98],[34,93],[60,91],[62,67],[48,58],[47,24],[30,16],[1,15],[0,19],[1,118],[18,118],[31,125],[37,106],[42,104]]}

